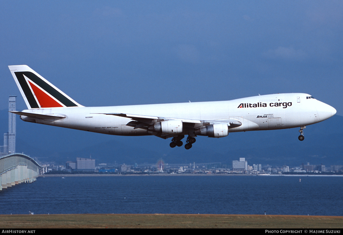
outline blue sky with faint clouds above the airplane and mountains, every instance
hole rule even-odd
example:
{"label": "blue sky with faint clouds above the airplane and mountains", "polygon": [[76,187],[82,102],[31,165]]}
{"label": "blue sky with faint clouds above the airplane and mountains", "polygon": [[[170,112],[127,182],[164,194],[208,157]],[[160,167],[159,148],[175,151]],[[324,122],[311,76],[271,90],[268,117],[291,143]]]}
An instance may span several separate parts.
{"label": "blue sky with faint clouds above the airplane and mountains", "polygon": [[0,1],[0,109],[26,64],[84,106],[304,92],[343,115],[343,1]]}

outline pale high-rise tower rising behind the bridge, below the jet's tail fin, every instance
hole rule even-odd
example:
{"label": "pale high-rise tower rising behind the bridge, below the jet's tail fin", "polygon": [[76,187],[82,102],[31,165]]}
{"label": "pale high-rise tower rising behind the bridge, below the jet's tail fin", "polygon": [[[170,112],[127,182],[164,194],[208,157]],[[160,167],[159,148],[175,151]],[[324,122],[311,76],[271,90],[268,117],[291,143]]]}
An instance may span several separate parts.
{"label": "pale high-rise tower rising behind the bridge, below the jet's tail fin", "polygon": [[[15,99],[17,96],[10,96],[8,111],[15,111]],[[4,152],[15,153],[15,114],[8,113],[8,133],[3,135]]]}

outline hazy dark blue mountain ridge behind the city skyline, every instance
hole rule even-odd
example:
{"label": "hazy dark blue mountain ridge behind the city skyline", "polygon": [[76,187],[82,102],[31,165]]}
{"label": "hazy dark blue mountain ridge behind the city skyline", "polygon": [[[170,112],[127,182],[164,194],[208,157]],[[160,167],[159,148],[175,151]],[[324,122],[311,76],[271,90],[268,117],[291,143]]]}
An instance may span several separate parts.
{"label": "hazy dark blue mountain ridge behind the city skyline", "polygon": [[[8,111],[0,110],[0,131],[7,132]],[[343,116],[334,115],[306,126],[304,141],[298,140],[298,128],[229,133],[225,138],[198,136],[193,147],[170,148],[170,139],[155,136],[111,136],[68,128],[40,125],[16,119],[16,151],[40,162],[65,164],[76,157],[96,159],[96,163],[222,162],[245,157],[249,165],[291,165],[301,163],[343,165]],[[334,129],[329,129],[329,128]],[[183,139],[185,144],[185,139]]]}

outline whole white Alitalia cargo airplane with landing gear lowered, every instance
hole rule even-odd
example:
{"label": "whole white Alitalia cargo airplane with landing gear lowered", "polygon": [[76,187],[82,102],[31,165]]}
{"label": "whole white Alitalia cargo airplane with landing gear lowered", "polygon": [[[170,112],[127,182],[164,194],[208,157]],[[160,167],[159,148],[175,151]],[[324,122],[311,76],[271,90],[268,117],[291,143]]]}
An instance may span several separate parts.
{"label": "whole white Alitalia cargo airplane with landing gear lowered", "polygon": [[27,105],[10,111],[25,122],[109,135],[172,138],[170,147],[190,149],[197,136],[300,127],[324,121],[336,110],[303,93],[259,95],[229,101],[84,107],[27,65],[9,66]]}

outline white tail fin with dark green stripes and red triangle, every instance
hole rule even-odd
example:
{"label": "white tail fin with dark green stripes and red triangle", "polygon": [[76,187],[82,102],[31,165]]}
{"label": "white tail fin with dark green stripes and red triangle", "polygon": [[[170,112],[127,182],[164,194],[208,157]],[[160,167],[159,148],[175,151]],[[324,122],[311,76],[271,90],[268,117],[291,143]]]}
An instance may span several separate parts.
{"label": "white tail fin with dark green stripes and red triangle", "polygon": [[27,65],[8,66],[28,109],[83,107]]}

